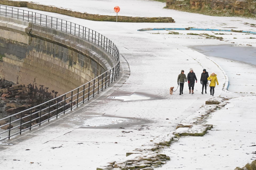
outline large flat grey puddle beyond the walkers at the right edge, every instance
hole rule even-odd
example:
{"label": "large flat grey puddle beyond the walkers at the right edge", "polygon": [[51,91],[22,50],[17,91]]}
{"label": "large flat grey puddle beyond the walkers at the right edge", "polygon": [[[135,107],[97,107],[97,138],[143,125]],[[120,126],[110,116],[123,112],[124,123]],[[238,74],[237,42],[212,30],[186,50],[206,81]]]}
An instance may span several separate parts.
{"label": "large flat grey puddle beyond the walkers at the right edge", "polygon": [[232,45],[188,46],[206,56],[221,57],[256,65],[256,48]]}

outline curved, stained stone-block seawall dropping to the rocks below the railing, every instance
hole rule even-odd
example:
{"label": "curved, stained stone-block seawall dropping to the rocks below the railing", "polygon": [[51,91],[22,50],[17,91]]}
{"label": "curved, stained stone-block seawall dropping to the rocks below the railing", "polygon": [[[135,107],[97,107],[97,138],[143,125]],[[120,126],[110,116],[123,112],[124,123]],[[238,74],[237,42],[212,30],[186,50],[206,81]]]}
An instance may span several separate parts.
{"label": "curved, stained stone-block seawall dropping to the rocks below the railing", "polygon": [[110,69],[109,53],[82,38],[0,17],[0,77],[56,97]]}

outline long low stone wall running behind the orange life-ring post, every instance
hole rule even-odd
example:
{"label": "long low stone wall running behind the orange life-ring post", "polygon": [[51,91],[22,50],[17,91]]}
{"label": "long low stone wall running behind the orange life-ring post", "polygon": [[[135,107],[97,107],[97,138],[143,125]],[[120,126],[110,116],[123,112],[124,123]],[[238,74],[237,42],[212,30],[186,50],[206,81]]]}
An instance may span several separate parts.
{"label": "long low stone wall running behind the orange life-ring post", "polygon": [[[82,18],[82,19],[93,20],[93,21],[116,22],[116,16],[88,14],[86,12],[82,13],[78,11],[61,8],[61,7],[42,5],[40,3],[35,3],[35,2],[0,0],[0,4],[15,6],[15,7],[27,7],[29,9],[46,11],[46,12],[54,12],[62,15],[68,15],[76,18]],[[133,17],[133,16],[118,16],[118,22],[175,23],[174,19],[171,17]]]}

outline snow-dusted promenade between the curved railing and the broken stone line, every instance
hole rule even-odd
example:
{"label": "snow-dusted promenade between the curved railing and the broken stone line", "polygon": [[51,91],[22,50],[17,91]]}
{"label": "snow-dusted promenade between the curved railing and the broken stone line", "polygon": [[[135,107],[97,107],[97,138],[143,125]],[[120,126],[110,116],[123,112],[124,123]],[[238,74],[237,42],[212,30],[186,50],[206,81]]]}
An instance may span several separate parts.
{"label": "snow-dusted promenade between the curved railing and the broken stone line", "polygon": [[[228,27],[246,30],[251,28],[241,22],[252,23],[253,20],[170,11],[176,23],[98,22],[36,11],[87,26],[111,39],[122,56],[120,76],[112,88],[90,103],[30,133],[1,142],[1,168],[94,170],[106,162],[124,158],[126,152],[161,134],[170,133],[211,97],[200,93],[200,81],[193,95],[188,94],[187,84],[183,95],[178,95],[178,90],[169,95],[170,86],[177,88],[181,69],[187,74],[193,68],[198,80],[203,68],[214,70],[220,84],[215,96],[221,95],[225,77],[214,62],[183,46],[186,40],[161,42],[137,29],[216,28],[223,27],[221,23],[225,22]],[[217,41],[213,43],[219,43]]]}

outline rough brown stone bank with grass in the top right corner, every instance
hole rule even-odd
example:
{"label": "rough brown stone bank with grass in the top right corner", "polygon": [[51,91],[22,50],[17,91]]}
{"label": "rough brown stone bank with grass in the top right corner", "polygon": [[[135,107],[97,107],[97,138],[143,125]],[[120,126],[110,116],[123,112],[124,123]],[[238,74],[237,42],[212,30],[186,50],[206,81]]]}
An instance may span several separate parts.
{"label": "rough brown stone bank with grass in the top right corner", "polygon": [[256,1],[252,0],[167,0],[166,8],[220,16],[256,17]]}

